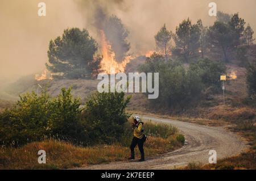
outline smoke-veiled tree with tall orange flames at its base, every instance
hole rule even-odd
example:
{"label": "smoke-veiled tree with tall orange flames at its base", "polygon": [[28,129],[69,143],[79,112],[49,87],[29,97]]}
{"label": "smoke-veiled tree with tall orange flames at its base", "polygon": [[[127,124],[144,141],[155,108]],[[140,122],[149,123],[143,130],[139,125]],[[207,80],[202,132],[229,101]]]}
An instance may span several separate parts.
{"label": "smoke-veiled tree with tall orange flames at its base", "polygon": [[108,74],[110,69],[114,69],[115,73],[124,72],[126,64],[131,60],[131,55],[127,54],[130,50],[127,41],[129,31],[117,16],[107,18],[102,12],[99,14],[101,21],[97,28],[100,29],[101,71]]}

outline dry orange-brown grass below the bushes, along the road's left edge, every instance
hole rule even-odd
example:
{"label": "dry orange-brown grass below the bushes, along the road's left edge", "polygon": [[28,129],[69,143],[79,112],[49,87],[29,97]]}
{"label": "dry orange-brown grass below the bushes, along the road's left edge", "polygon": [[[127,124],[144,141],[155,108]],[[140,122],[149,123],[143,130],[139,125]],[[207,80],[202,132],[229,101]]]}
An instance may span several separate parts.
{"label": "dry orange-brown grass below the bushes, along the road's left edge", "polygon": [[[144,145],[147,157],[167,153],[181,146],[175,136],[167,139],[150,137]],[[46,164],[38,163],[37,153],[46,151]],[[139,158],[139,150],[135,153]],[[0,149],[0,169],[68,169],[84,165],[125,161],[130,154],[129,148],[121,145],[101,145],[82,148],[67,142],[47,140],[32,142],[21,148]]]}

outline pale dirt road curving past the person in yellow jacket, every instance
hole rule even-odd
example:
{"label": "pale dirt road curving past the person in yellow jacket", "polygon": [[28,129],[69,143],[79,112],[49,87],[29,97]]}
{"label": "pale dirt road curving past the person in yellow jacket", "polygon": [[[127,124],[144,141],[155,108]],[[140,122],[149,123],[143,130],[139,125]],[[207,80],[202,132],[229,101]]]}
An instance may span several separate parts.
{"label": "pale dirt road curving past the person in yellow jacket", "polygon": [[[207,127],[182,121],[142,116],[144,122],[172,124],[185,135],[185,145],[171,153],[147,159],[146,162],[114,162],[82,167],[80,169],[174,169],[189,162],[208,163],[209,150],[217,151],[217,160],[241,153],[247,148],[246,142],[235,133],[224,128]],[[139,154],[139,153],[137,153]]]}

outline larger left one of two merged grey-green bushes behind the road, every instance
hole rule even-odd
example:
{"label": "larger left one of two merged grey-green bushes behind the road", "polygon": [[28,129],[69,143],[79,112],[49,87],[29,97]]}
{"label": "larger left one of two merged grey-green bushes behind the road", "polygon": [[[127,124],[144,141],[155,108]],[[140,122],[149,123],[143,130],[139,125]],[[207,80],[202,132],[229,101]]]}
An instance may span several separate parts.
{"label": "larger left one of two merged grey-green bushes behind the road", "polygon": [[200,95],[201,77],[197,71],[186,70],[176,61],[166,62],[163,56],[153,54],[140,68],[143,72],[159,73],[159,98],[152,102],[163,106],[184,106],[188,100]]}

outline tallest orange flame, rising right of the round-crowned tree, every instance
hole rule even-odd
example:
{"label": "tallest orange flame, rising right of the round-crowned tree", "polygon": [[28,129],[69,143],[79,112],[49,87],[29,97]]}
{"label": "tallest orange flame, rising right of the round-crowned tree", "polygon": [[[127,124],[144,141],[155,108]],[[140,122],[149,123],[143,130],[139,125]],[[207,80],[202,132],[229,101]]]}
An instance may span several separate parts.
{"label": "tallest orange flame, rising right of the round-crowned tree", "polygon": [[111,45],[106,40],[104,31],[101,30],[101,53],[103,58],[101,60],[101,71],[104,73],[110,74],[112,70],[115,70],[115,73],[125,72],[126,64],[131,60],[131,56],[127,56],[121,63],[115,61],[115,53],[112,50]]}

